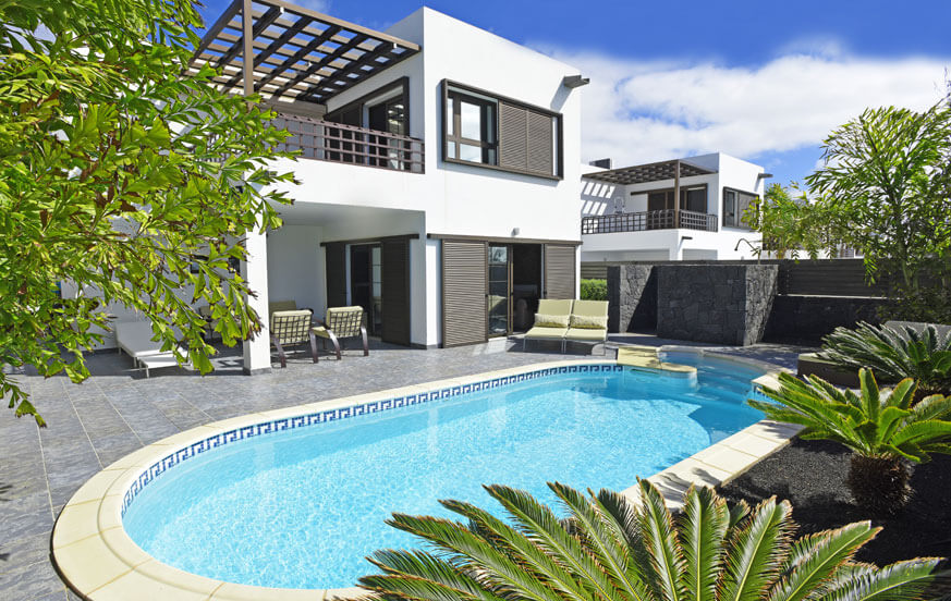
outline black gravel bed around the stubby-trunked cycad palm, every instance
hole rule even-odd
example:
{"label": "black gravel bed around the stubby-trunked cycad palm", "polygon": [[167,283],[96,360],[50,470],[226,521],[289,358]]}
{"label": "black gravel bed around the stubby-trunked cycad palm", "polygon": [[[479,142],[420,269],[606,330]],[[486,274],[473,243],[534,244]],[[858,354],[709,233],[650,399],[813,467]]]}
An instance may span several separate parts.
{"label": "black gravel bed around the stubby-trunked cycad palm", "polygon": [[859,561],[883,566],[918,556],[951,557],[951,456],[915,466],[911,503],[900,515],[881,519],[852,502],[845,487],[850,453],[838,443],[795,439],[720,493],[731,504],[744,500],[753,506],[773,494],[789,500],[800,536],[871,519],[883,530],[859,550]]}

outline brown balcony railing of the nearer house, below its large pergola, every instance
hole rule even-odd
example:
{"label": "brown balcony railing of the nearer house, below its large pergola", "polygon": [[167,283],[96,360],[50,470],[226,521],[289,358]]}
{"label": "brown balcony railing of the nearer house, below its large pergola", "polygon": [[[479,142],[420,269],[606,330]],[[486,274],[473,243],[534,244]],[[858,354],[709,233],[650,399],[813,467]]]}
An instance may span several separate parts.
{"label": "brown balcony railing of the nearer house, below its large pergola", "polygon": [[302,157],[318,161],[424,172],[422,139],[288,113],[272,123],[291,133],[279,150],[300,150]]}

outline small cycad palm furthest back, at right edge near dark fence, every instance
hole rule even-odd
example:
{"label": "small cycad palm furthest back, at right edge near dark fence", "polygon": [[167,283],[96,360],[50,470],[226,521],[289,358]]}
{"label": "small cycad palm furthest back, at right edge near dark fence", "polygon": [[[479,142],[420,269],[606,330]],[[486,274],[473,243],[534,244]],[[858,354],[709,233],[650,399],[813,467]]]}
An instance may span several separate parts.
{"label": "small cycad palm furthest back, at right edge near dark fence", "polygon": [[914,378],[920,396],[951,394],[951,330],[942,334],[934,326],[919,332],[859,322],[822,339],[819,356],[845,369],[871,368],[883,382]]}

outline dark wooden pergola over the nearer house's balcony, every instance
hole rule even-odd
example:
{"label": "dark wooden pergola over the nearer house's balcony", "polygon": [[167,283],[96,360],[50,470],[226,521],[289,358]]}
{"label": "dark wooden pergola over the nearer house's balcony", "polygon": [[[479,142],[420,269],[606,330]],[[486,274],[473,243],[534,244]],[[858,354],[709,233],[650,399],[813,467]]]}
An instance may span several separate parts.
{"label": "dark wooden pergola over the nearer house's balcony", "polygon": [[209,64],[228,91],[326,105],[419,46],[283,0],[234,0],[207,30],[190,73]]}

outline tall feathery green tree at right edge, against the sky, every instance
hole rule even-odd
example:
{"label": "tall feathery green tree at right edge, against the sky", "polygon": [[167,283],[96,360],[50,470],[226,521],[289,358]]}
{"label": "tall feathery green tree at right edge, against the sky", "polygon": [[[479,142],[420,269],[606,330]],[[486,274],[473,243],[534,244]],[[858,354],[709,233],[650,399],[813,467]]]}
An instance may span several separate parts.
{"label": "tall feathery green tree at right edge, against the sky", "polygon": [[806,177],[842,242],[867,274],[900,275],[914,293],[951,255],[951,109],[868,109],[824,143],[825,165]]}

